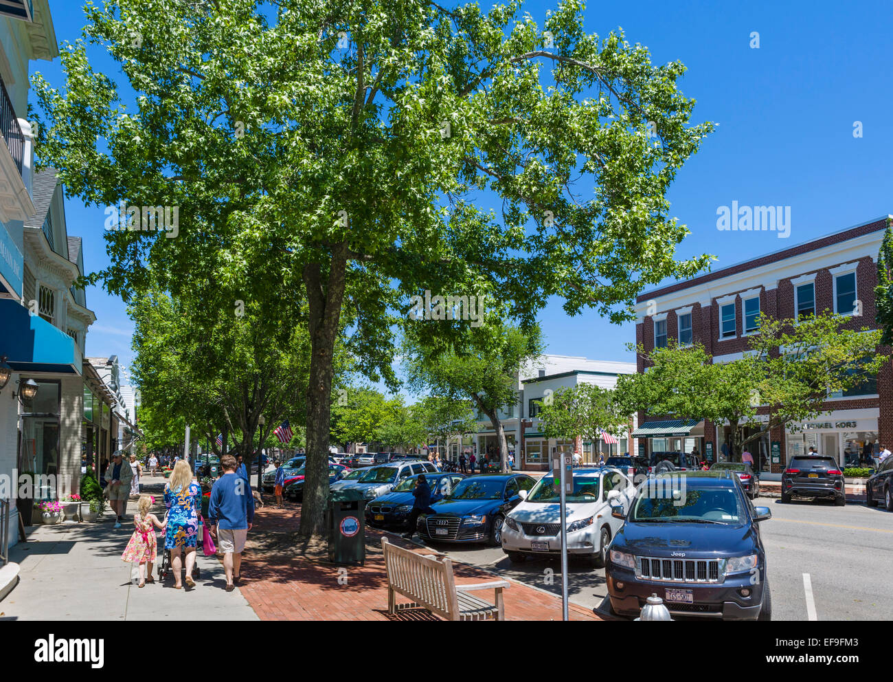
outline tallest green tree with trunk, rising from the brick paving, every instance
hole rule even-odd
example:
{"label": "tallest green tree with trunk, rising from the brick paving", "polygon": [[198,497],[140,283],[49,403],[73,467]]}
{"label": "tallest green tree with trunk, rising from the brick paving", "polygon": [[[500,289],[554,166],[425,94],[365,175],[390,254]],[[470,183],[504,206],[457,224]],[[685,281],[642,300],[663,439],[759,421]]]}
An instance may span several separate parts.
{"label": "tallest green tree with trunk, rising from the brick paving", "polygon": [[[522,6],[88,2],[84,38],[61,50],[64,88],[32,79],[39,160],[72,194],[179,210],[176,229],[106,233],[109,290],[208,280],[220,311],[238,288],[263,307],[303,291],[304,532],[324,531],[343,323],[367,374],[393,381],[390,316],[421,290],[489,282],[518,316],[557,294],[617,322],[643,287],[706,265],[673,259],[687,230],[666,199],[713,128],[690,123],[684,66],[586,33],[579,0],[541,25]],[[132,99],[88,44],[120,63]],[[501,214],[476,207],[483,189]]]}

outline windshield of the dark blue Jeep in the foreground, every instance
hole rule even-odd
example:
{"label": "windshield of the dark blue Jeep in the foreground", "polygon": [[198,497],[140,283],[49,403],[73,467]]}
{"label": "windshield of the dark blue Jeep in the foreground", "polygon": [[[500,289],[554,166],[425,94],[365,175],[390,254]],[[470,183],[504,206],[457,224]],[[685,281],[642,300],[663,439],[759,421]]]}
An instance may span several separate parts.
{"label": "windshield of the dark blue Jeep in the foreground", "polygon": [[[739,525],[745,517],[739,495],[730,487],[697,486],[694,479],[658,476],[638,489],[630,521]],[[652,484],[653,483],[653,484]]]}

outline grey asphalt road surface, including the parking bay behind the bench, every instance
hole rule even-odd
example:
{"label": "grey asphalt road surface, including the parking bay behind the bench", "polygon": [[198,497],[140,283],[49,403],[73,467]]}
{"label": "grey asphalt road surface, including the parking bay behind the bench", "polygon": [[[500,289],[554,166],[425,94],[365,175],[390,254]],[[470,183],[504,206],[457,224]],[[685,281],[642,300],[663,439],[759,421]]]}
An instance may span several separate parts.
{"label": "grey asphalt road surface, including the parking bay behind the bench", "polygon": [[[823,501],[781,504],[775,498],[759,498],[755,505],[772,510],[772,518],[761,526],[772,586],[772,619],[889,619],[893,593],[885,578],[893,565],[893,513],[869,509],[863,502],[841,508]],[[560,561],[513,564],[498,547],[450,543],[428,546],[454,560],[561,594]],[[568,577],[572,602],[606,609],[603,568],[588,568],[572,559]],[[561,617],[560,602],[556,603],[556,614],[556,618]]]}

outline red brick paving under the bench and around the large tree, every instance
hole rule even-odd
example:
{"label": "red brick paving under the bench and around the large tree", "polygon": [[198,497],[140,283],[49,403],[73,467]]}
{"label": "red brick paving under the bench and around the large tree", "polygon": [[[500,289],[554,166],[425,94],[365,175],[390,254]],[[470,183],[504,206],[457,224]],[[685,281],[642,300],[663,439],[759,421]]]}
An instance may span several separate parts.
{"label": "red brick paving under the bench and around the large tree", "polygon": [[[389,615],[388,580],[381,538],[418,553],[430,554],[396,535],[366,530],[365,566],[341,567],[328,561],[325,543],[296,547],[300,505],[271,506],[255,514],[243,555],[239,591],[262,620],[439,620],[427,610]],[[498,579],[480,568],[453,564],[457,584]],[[346,585],[339,585],[338,579]],[[561,600],[529,585],[509,581],[505,590],[505,619],[560,620]],[[488,598],[492,593],[487,594]],[[398,603],[402,597],[397,597]],[[402,600],[405,601],[405,600]],[[570,604],[572,620],[600,620],[591,610]]]}

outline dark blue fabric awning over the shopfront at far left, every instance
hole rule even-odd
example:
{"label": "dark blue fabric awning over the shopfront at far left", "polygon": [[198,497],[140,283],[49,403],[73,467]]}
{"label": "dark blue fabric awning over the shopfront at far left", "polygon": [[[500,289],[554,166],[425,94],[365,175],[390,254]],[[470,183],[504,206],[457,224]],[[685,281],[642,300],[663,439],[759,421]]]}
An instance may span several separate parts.
{"label": "dark blue fabric awning over the shopfront at far left", "polygon": [[74,339],[13,299],[0,299],[0,355],[16,372],[80,375]]}

